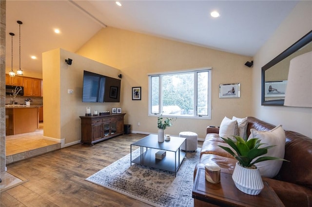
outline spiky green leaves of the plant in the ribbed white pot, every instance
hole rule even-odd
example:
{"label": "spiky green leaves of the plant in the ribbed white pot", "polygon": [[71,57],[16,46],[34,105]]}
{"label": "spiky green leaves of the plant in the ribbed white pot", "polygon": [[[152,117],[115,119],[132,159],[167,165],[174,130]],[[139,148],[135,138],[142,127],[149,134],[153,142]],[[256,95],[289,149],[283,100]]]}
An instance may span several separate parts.
{"label": "spiky green leaves of the plant in the ribbed white pot", "polygon": [[234,136],[234,138],[236,139],[236,141],[232,140],[231,138],[222,138],[222,139],[233,148],[235,153],[229,147],[224,147],[220,145],[218,146],[224,149],[225,151],[227,151],[228,153],[230,153],[231,155],[233,155],[234,158],[238,160],[238,163],[244,168],[256,169],[256,167],[254,166],[255,163],[266,161],[266,160],[287,161],[279,157],[261,156],[261,155],[267,154],[268,149],[276,145],[259,148],[261,145],[265,144],[265,143],[260,143],[261,140],[259,138],[251,138],[248,141],[245,141],[243,138],[239,136]]}

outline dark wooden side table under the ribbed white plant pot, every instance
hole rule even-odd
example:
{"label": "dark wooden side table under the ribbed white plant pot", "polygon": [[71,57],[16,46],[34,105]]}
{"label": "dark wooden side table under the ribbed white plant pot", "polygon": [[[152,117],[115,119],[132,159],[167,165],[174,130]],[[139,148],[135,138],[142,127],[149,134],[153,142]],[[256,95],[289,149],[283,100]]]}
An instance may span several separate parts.
{"label": "dark wooden side table under the ribbed white plant pot", "polygon": [[194,206],[284,207],[268,183],[263,184],[260,194],[249,195],[235,187],[231,174],[221,173],[221,182],[212,184],[205,179],[205,169],[198,168],[192,192]]}

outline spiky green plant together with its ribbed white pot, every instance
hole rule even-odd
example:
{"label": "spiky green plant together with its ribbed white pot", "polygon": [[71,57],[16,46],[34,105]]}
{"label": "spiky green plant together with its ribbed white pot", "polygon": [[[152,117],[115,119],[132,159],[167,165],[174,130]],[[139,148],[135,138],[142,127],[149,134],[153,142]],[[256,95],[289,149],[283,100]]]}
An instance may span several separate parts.
{"label": "spiky green plant together with its ribbed white pot", "polygon": [[232,149],[225,146],[218,146],[233,155],[238,161],[232,175],[236,188],[247,194],[257,195],[264,186],[260,171],[254,164],[266,160],[287,160],[273,156],[262,156],[267,154],[268,149],[275,145],[259,148],[265,145],[265,143],[260,143],[261,140],[259,138],[251,138],[247,141],[239,136],[234,136],[234,138],[236,141],[231,138],[221,138]]}

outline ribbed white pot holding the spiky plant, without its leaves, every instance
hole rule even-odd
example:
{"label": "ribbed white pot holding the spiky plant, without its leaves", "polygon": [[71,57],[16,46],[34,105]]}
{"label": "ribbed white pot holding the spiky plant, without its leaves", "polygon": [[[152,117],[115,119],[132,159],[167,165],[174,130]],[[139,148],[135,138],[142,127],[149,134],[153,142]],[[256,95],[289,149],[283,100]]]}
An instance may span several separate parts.
{"label": "ribbed white pot holding the spiky plant, without its leaves", "polygon": [[236,188],[244,193],[257,195],[263,189],[263,182],[258,168],[244,168],[237,162],[232,178]]}

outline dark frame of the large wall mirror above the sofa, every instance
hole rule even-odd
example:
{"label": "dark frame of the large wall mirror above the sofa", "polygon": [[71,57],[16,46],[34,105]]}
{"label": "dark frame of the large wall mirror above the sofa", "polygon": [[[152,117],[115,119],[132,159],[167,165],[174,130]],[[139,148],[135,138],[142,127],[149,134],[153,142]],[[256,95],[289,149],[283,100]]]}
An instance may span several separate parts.
{"label": "dark frame of the large wall mirror above the sofa", "polygon": [[265,101],[265,71],[312,41],[312,30],[261,68],[261,105],[284,105],[284,99]]}

